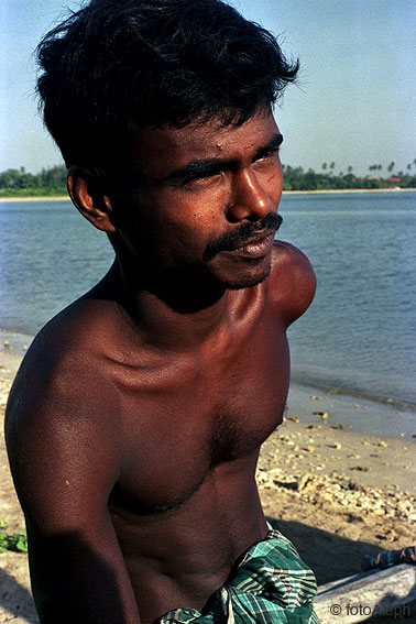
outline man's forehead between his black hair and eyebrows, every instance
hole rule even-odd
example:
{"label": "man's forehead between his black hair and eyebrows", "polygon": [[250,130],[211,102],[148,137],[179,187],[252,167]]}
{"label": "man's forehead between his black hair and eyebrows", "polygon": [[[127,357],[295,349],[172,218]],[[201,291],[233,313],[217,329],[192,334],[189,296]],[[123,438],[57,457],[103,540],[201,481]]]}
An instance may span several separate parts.
{"label": "man's forehead between his black hair and eyebrows", "polygon": [[130,163],[150,177],[168,175],[191,161],[250,160],[278,133],[270,111],[261,111],[239,127],[220,127],[217,119],[185,128],[145,128],[130,152]]}

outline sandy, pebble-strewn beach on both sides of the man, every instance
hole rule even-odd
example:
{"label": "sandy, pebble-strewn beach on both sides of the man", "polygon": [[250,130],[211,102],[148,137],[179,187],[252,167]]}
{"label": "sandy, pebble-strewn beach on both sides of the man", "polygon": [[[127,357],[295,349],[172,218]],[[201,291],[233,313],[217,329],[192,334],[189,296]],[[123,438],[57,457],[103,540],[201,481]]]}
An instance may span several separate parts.
{"label": "sandy, pebble-strewn beach on both sides of the man", "polygon": [[[1,415],[20,361],[12,339],[8,344],[3,341]],[[293,540],[314,569],[318,584],[360,572],[364,555],[415,543],[416,437],[370,436],[351,430],[342,423],[346,402],[359,413],[354,397],[326,394],[314,387],[297,393],[295,387],[285,422],[264,444],[259,462],[258,482],[267,519]],[[14,533],[23,528],[24,522],[3,437],[0,461],[0,518]],[[1,552],[0,565],[0,623],[36,622],[26,556]],[[407,621],[416,622],[416,606],[410,613]],[[332,621],[329,618],[328,624]]]}

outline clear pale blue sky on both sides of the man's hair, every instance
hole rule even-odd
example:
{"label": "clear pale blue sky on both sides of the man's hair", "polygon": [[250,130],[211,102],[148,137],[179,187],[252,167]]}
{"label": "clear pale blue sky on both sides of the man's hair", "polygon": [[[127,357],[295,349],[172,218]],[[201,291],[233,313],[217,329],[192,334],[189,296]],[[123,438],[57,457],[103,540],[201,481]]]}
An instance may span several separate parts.
{"label": "clear pale blue sky on both sides of the man's hair", "polygon": [[[114,0],[117,1],[117,0]],[[414,0],[233,0],[299,56],[300,80],[276,109],[282,160],[336,173],[416,158]],[[33,50],[74,0],[1,0],[0,171],[62,163],[34,97]],[[416,171],[414,168],[414,171]],[[385,168],[384,168],[385,173]]]}

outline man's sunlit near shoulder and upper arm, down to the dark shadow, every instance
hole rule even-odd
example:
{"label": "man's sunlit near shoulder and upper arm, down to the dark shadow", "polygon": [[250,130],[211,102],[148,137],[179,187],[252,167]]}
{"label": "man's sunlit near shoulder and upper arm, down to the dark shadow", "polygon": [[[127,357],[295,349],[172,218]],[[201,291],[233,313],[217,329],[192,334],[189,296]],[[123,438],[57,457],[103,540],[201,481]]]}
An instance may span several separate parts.
{"label": "man's sunlit near shoulder and upper arm, down to the dark shadow", "polygon": [[[57,523],[84,522],[80,508],[87,522],[94,501],[107,501],[120,466],[117,396],[108,388],[98,336],[86,322],[90,311],[85,304],[74,306],[37,335],[6,414],[23,511],[51,530]],[[66,511],[54,514],[54,508]]]}

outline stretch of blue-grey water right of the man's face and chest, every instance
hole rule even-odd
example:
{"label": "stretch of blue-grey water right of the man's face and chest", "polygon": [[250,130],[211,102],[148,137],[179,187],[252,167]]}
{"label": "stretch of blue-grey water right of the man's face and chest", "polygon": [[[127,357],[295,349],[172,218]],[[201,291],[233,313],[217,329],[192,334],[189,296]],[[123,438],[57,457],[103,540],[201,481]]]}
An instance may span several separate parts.
{"label": "stretch of blue-grey water right of the man's face and chest", "polygon": [[416,196],[285,196],[280,236],[308,255],[314,304],[289,330],[293,376],[416,403]]}

